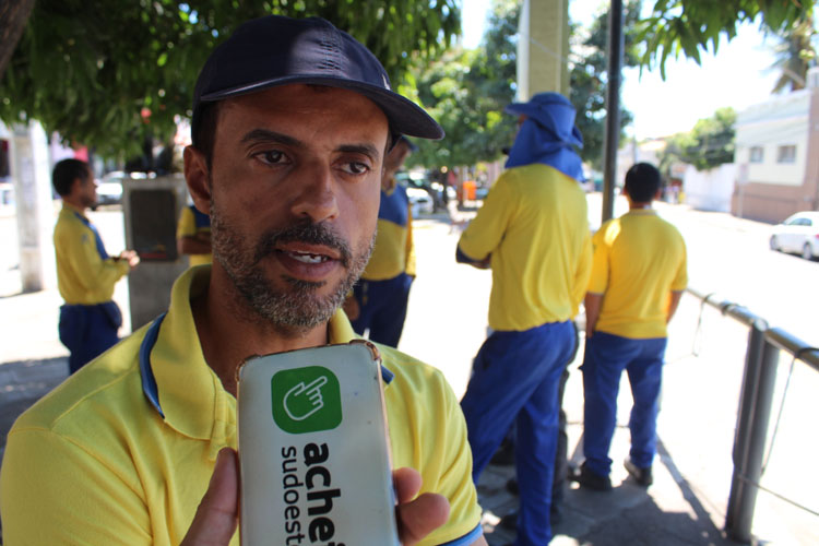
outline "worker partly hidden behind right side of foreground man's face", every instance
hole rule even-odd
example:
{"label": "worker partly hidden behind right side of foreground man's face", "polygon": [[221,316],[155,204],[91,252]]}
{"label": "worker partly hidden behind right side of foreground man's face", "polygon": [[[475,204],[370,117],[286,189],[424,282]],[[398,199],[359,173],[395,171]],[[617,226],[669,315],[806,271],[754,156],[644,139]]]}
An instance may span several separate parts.
{"label": "worker partly hidden behind right side of foreground man's face", "polygon": [[384,159],[376,246],[344,306],[356,333],[369,330],[371,341],[391,347],[399,346],[415,278],[412,205],[395,174],[416,149],[401,136]]}

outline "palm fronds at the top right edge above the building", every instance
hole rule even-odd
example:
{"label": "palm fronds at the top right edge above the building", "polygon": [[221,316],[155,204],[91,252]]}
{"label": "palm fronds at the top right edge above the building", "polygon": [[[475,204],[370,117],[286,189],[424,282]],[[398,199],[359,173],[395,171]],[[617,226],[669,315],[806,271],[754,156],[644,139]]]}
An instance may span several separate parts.
{"label": "palm fronds at the top right edge above the building", "polygon": [[774,47],[776,61],[771,68],[781,75],[773,86],[773,93],[805,88],[808,69],[816,64],[815,35],[814,17],[795,22],[778,35],[780,43]]}

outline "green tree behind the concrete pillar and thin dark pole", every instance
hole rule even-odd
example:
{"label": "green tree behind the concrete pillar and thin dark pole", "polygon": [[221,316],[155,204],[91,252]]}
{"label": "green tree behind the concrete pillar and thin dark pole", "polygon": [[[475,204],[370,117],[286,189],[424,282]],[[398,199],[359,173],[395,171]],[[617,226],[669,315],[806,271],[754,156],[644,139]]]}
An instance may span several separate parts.
{"label": "green tree behind the concrete pillar and thin dark pole", "polygon": [[[454,166],[490,162],[514,140],[517,118],[503,114],[515,98],[517,39],[520,2],[496,1],[480,47],[455,49],[416,70],[418,98],[447,131],[441,142],[419,143],[411,165]],[[640,56],[633,27],[640,1],[627,2],[625,64],[636,67]],[[578,109],[584,162],[600,166],[606,122],[608,12],[601,12],[587,29],[572,26],[570,100]],[[631,122],[620,112],[621,127]]]}

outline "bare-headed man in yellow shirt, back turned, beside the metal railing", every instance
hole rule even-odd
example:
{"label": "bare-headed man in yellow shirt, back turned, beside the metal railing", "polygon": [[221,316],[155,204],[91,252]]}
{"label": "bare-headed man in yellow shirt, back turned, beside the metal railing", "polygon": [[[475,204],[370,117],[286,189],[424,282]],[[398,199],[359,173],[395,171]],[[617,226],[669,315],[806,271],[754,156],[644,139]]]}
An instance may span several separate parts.
{"label": "bare-headed man in yellow shirt, back turned, beside the metal railing", "polygon": [[634,399],[626,470],[642,486],[648,487],[653,479],[666,324],[687,284],[682,236],[651,207],[660,187],[660,171],[653,165],[632,166],[624,188],[629,212],[603,224],[593,239],[581,367],[585,462],[577,476],[581,486],[591,489],[612,488],[608,450],[624,370]]}

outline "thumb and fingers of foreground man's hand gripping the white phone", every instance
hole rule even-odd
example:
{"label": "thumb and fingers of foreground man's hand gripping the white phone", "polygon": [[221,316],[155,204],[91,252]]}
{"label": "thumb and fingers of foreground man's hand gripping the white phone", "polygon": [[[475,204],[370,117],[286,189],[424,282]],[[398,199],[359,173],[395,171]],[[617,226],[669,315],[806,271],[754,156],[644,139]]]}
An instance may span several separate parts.
{"label": "thumb and fingers of foreground man's hand gripping the white phone", "polygon": [[[442,495],[420,490],[422,479],[413,468],[399,468],[392,473],[399,506],[401,544],[413,546],[449,519],[449,501]],[[211,484],[181,546],[226,546],[239,521],[239,467],[236,451],[219,451],[213,468]]]}

